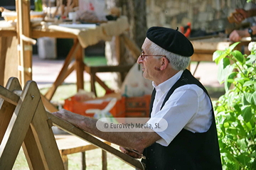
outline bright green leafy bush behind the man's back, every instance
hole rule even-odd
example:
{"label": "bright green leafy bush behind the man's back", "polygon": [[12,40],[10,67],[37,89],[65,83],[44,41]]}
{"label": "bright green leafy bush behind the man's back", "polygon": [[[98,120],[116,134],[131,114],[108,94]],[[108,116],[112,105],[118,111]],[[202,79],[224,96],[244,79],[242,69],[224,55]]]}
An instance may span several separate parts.
{"label": "bright green leafy bush behind the man's back", "polygon": [[242,55],[235,46],[213,53],[225,94],[213,103],[223,169],[256,169],[256,50]]}

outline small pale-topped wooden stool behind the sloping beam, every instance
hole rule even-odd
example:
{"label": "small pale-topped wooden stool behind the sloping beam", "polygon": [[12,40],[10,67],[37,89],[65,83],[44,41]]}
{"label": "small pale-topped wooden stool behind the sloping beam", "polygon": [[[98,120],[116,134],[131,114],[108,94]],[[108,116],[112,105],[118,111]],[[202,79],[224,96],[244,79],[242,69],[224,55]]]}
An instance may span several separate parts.
{"label": "small pale-topped wooden stool behind the sloping beam", "polygon": [[[65,170],[68,170],[68,154],[82,153],[82,170],[86,169],[85,163],[85,151],[97,149],[95,145],[81,140],[78,137],[72,135],[55,135],[55,139],[60,151],[60,156],[63,159]],[[110,142],[104,141],[107,145],[111,145]],[[102,170],[107,170],[107,152],[102,150]]]}

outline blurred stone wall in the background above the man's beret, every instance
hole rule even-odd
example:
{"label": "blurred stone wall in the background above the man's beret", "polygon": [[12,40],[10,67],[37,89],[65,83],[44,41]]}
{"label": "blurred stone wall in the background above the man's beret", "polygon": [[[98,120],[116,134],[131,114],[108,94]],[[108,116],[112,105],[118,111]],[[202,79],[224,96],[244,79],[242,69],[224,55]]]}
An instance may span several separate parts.
{"label": "blurred stone wall in the background above the man's beret", "polygon": [[176,28],[191,22],[194,30],[225,30],[235,8],[252,8],[246,0],[146,0],[147,26]]}

